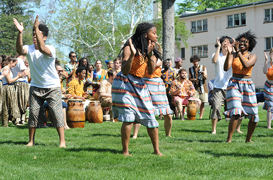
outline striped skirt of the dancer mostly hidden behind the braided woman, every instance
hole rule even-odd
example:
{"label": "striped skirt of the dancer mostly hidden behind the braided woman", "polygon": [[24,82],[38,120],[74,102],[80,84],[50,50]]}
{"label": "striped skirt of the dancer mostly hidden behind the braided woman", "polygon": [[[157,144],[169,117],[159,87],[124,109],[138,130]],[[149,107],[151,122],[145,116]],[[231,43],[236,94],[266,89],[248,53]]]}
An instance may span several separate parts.
{"label": "striped skirt of the dancer mostly hidden behind the braided woman", "polygon": [[150,92],[153,106],[156,109],[155,114],[173,114],[173,111],[169,106],[169,101],[166,95],[166,89],[163,80],[159,77],[144,77],[143,80],[146,83]]}

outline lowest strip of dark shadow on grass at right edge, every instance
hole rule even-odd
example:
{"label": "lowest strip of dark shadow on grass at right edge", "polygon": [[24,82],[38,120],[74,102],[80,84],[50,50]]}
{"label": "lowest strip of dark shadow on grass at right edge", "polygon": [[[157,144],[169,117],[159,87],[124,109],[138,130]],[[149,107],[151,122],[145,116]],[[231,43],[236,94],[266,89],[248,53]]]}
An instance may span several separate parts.
{"label": "lowest strip of dark shadow on grass at right edge", "polygon": [[273,154],[270,154],[270,155],[258,154],[258,153],[256,153],[256,154],[243,154],[243,153],[239,153],[239,152],[236,152],[236,153],[216,153],[216,152],[209,151],[209,150],[199,151],[199,152],[212,155],[215,158],[219,158],[221,156],[249,157],[249,158],[272,158],[273,157]]}

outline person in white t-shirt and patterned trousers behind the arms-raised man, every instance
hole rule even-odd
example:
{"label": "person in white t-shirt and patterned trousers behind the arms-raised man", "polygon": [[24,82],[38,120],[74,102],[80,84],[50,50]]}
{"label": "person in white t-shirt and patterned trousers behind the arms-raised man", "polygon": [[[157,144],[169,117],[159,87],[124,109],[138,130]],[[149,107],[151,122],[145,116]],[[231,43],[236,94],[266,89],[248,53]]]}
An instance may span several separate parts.
{"label": "person in white t-shirt and patterned trousers behind the arms-raised man", "polygon": [[[17,55],[18,63],[13,68],[13,74],[18,74],[18,72],[24,72],[26,75],[28,75],[29,68],[25,66],[24,59],[24,55]],[[17,79],[14,83],[14,87],[17,93],[18,108],[20,109],[20,119],[18,121],[20,122],[20,124],[25,124],[25,113],[27,108],[27,101],[29,98],[29,86],[27,82],[27,76]]]}

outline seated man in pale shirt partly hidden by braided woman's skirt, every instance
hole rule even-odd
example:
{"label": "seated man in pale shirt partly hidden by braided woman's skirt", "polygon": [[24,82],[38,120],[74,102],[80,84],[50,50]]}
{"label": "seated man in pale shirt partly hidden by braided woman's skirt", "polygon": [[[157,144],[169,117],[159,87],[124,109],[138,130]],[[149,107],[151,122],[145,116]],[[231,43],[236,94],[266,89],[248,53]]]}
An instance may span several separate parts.
{"label": "seated man in pale shirt partly hidden by braided woman's skirt", "polygon": [[117,75],[117,71],[114,69],[110,69],[107,72],[108,79],[105,79],[101,81],[99,86],[99,96],[98,100],[100,101],[100,104],[102,107],[109,107],[109,114],[110,114],[110,121],[115,122],[113,119],[113,113],[112,113],[112,83]]}

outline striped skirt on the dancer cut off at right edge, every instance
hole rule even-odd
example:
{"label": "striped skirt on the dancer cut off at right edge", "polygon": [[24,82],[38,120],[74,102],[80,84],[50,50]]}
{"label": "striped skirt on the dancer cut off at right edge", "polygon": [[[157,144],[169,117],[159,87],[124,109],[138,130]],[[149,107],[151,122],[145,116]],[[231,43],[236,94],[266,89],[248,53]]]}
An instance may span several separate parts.
{"label": "striped skirt on the dancer cut off at right edge", "polygon": [[[273,112],[273,84],[268,81],[266,81],[264,85],[264,98],[265,103],[263,109],[268,112]],[[273,119],[273,117],[271,117],[271,119]]]}

